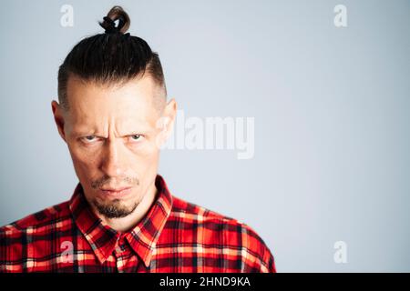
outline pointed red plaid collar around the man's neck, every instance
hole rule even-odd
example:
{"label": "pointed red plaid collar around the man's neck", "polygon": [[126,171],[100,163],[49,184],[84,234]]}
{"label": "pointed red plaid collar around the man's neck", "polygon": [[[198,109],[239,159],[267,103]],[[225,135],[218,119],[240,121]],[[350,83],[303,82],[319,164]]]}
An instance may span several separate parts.
{"label": "pointed red plaid collar around the man's neck", "polygon": [[147,216],[143,217],[133,229],[121,234],[104,224],[92,212],[84,196],[83,187],[80,183],[77,184],[69,207],[78,229],[86,237],[101,264],[112,254],[119,237],[122,235],[142,259],[145,266],[149,266],[152,252],[172,208],[172,196],[162,176],[156,176],[155,186],[158,190],[157,196],[149,208]]}

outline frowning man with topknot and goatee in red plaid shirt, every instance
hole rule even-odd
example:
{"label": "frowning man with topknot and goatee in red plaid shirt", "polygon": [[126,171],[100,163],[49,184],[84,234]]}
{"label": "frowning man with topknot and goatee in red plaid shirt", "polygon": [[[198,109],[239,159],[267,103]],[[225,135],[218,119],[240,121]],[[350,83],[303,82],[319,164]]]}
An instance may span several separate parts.
{"label": "frowning man with topknot and goatee in red plaid shirt", "polygon": [[250,226],[172,196],[157,174],[177,105],[129,23],[113,7],[105,33],[60,66],[52,110],[79,183],[69,201],[0,228],[0,271],[275,272]]}

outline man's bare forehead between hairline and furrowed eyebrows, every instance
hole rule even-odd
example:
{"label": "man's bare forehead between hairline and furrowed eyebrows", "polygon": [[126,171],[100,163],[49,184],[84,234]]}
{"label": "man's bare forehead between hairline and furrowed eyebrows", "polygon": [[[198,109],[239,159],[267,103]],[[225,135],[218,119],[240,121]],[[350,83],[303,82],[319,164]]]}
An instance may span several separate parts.
{"label": "man's bare forehead between hairline and furrowed eyebrows", "polygon": [[67,101],[72,126],[101,127],[110,122],[151,125],[158,118],[152,78],[132,79],[124,84],[101,85],[70,77]]}

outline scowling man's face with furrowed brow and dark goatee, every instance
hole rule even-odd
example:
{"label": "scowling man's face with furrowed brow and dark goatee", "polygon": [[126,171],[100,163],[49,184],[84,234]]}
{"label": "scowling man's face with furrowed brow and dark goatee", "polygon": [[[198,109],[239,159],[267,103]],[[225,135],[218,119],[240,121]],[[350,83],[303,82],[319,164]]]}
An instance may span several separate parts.
{"label": "scowling man's face with furrowed brow and dark goatee", "polygon": [[[87,201],[103,216],[128,216],[154,185],[163,134],[158,94],[149,76],[111,86],[70,77],[69,109],[53,103]],[[162,112],[172,120],[174,102]]]}

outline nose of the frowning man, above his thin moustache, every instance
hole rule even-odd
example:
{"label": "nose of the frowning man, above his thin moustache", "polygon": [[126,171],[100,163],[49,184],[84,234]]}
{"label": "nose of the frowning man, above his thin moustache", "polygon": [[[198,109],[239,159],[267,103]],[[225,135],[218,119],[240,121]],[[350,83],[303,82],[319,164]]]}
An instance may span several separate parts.
{"label": "nose of the frowning man, above his thin moustache", "polygon": [[115,139],[107,139],[103,151],[101,170],[107,176],[122,176],[125,174],[124,145]]}

